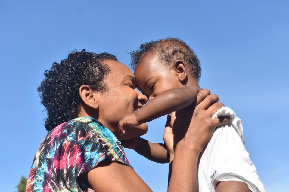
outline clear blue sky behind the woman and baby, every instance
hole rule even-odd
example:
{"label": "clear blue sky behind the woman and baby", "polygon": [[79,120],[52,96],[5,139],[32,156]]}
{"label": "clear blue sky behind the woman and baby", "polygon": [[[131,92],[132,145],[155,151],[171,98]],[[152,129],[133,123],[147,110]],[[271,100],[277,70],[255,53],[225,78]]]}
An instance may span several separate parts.
{"label": "clear blue sky behind the woman and baby", "polygon": [[[127,51],[168,36],[182,38],[201,61],[200,86],[242,119],[245,146],[267,191],[286,191],[288,150],[288,1],[1,1],[1,191],[28,176],[47,134],[36,88],[44,71],[73,49]],[[162,142],[165,118],[144,138]],[[166,191],[168,164],[126,149],[153,191]]]}

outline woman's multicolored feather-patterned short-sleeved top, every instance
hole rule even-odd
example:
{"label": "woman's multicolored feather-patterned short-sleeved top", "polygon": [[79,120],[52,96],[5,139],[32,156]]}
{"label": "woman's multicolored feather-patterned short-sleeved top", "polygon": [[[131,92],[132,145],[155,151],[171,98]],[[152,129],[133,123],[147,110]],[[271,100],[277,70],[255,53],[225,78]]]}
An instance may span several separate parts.
{"label": "woman's multicolored feather-patterned short-sleeved top", "polygon": [[37,150],[26,192],[93,192],[77,178],[104,159],[129,165],[120,142],[92,117],[79,117],[54,128]]}

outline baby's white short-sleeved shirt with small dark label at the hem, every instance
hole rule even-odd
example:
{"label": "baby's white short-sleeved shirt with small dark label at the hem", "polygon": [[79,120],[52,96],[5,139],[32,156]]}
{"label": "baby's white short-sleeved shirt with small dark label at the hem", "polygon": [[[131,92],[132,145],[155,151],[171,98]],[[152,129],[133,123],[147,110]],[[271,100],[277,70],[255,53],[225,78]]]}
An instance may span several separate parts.
{"label": "baby's white short-sleeved shirt with small dark label at the hem", "polygon": [[228,107],[222,107],[213,118],[229,116],[228,124],[216,128],[201,154],[198,167],[198,191],[214,192],[220,181],[242,181],[253,192],[264,192],[256,167],[244,146],[241,119]]}

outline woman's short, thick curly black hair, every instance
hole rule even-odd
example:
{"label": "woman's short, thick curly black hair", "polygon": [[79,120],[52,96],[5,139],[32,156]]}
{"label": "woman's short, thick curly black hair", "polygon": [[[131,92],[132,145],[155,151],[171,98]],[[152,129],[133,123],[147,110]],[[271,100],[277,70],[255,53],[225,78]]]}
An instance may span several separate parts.
{"label": "woman's short, thick curly black hair", "polygon": [[48,131],[77,117],[82,101],[79,96],[81,85],[89,85],[96,91],[107,90],[103,79],[110,69],[104,64],[105,59],[117,61],[117,58],[109,53],[74,50],[67,58],[60,63],[53,63],[51,69],[45,71],[45,79],[37,91],[47,111],[45,128]]}

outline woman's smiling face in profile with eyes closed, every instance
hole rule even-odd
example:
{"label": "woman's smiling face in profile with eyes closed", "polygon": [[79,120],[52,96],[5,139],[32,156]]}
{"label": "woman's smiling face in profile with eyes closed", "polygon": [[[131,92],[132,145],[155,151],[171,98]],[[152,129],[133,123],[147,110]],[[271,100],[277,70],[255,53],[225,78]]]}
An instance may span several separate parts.
{"label": "woman's smiling face in profile with eyes closed", "polygon": [[98,102],[98,120],[107,126],[119,140],[145,134],[148,126],[144,123],[137,127],[127,127],[126,134],[120,137],[119,120],[124,114],[138,110],[148,100],[136,90],[135,76],[128,67],[114,60],[106,60],[105,63],[110,67],[110,72],[104,78],[108,91],[101,94]]}

